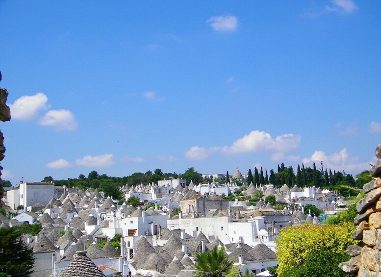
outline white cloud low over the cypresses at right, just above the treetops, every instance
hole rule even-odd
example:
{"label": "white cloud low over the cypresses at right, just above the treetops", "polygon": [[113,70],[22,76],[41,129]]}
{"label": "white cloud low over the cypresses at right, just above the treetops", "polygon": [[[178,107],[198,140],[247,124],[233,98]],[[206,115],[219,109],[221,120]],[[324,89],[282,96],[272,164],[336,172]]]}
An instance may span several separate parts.
{"label": "white cloud low over the cypresses at right, just above the treetops", "polygon": [[358,157],[351,156],[347,149],[344,148],[340,152],[327,155],[324,151],[315,151],[310,157],[304,158],[304,164],[312,164],[312,162],[323,161],[325,168],[332,168],[336,170],[344,170],[347,172],[360,172],[363,170],[369,170],[369,163],[361,163]]}

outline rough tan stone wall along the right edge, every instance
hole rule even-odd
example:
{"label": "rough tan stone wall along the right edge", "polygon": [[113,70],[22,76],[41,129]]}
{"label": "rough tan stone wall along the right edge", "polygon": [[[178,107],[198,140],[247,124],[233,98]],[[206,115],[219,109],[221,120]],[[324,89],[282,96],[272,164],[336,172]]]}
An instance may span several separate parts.
{"label": "rough tan stone wall along the right edge", "polygon": [[364,185],[365,197],[357,203],[358,227],[353,236],[360,242],[348,247],[352,258],[339,265],[344,272],[361,277],[381,277],[381,144],[376,156],[378,161],[370,170],[374,179]]}

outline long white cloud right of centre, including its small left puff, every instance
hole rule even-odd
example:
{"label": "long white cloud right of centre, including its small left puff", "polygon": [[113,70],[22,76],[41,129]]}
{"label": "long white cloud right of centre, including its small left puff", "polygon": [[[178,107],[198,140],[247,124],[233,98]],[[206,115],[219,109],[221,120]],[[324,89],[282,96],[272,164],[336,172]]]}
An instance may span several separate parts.
{"label": "long white cloud right of centre, including its small left puff", "polygon": [[275,139],[269,133],[254,130],[250,134],[237,139],[231,146],[213,146],[210,148],[193,146],[185,152],[185,156],[192,160],[204,160],[211,153],[220,151],[223,154],[230,155],[236,153],[275,151],[273,160],[278,159],[282,152],[291,151],[299,147],[300,135],[284,134]]}

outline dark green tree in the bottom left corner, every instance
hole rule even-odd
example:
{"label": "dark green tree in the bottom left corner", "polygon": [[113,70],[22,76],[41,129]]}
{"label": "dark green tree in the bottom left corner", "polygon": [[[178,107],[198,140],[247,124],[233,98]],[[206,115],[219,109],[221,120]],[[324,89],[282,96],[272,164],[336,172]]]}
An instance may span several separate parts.
{"label": "dark green tree in the bottom left corner", "polygon": [[0,272],[13,277],[27,277],[32,274],[33,250],[21,240],[20,227],[0,228]]}

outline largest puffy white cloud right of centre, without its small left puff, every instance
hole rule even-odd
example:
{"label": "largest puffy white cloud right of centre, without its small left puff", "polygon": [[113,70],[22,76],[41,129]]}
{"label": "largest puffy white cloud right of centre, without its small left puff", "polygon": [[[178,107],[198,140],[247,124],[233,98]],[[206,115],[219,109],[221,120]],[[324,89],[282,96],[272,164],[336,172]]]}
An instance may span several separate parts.
{"label": "largest puffy white cloud right of centre, without its small left puff", "polygon": [[255,151],[290,151],[299,147],[300,135],[284,134],[275,139],[269,133],[254,130],[250,134],[239,138],[231,146],[224,146],[225,154],[245,153]]}

